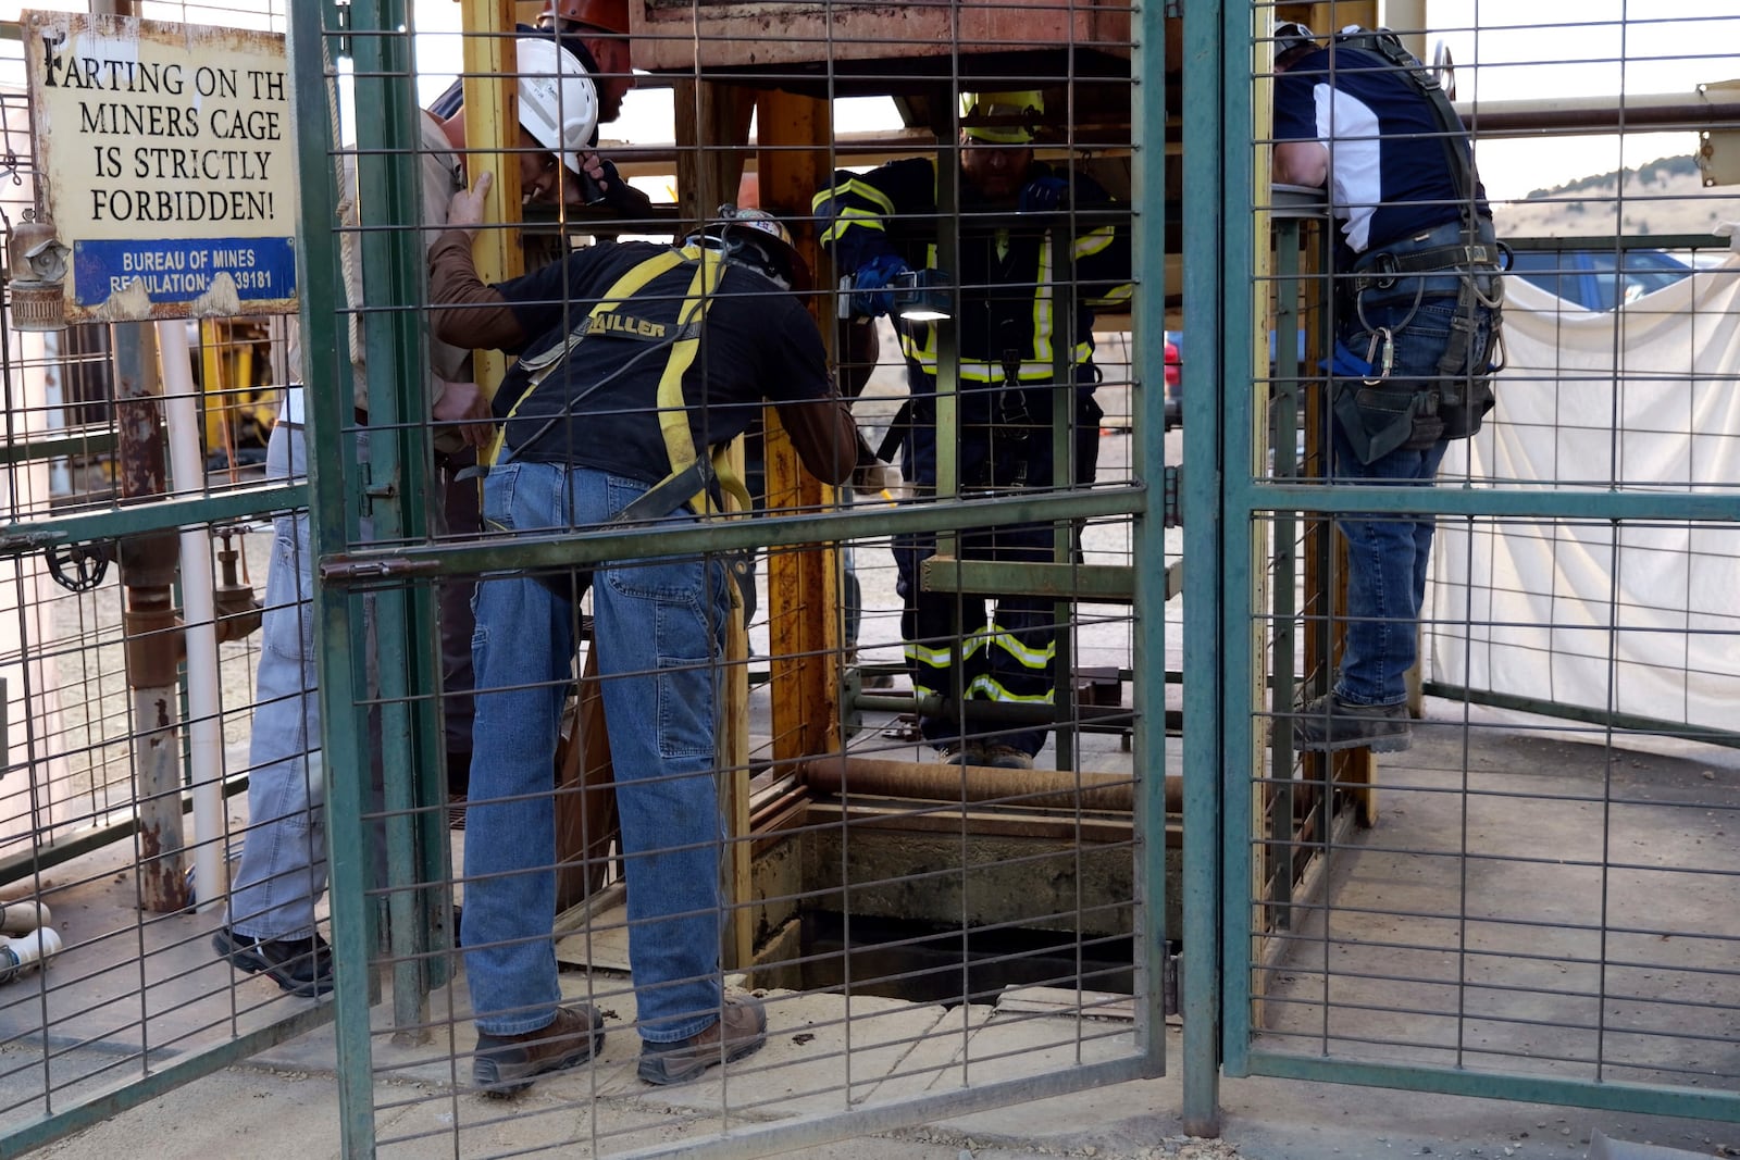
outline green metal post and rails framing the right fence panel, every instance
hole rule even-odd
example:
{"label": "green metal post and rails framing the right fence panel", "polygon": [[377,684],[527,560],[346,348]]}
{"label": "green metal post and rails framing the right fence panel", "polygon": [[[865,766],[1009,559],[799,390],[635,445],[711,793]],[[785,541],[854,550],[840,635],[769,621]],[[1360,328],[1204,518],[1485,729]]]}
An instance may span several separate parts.
{"label": "green metal post and rails framing the right fence panel", "polygon": [[[1333,517],[1345,511],[1542,517],[1597,523],[1740,522],[1740,496],[1735,494],[1441,485],[1359,487],[1354,496],[1352,489],[1255,478],[1256,473],[1246,466],[1253,463],[1255,391],[1232,384],[1256,381],[1249,341],[1255,256],[1248,223],[1251,207],[1258,203],[1258,184],[1255,150],[1228,150],[1223,143],[1249,139],[1251,19],[1258,10],[1249,3],[1213,0],[1192,3],[1185,14],[1185,188],[1218,191],[1215,198],[1187,198],[1185,203],[1185,308],[1197,334],[1206,317],[1216,317],[1220,339],[1218,350],[1216,344],[1192,341],[1194,353],[1183,369],[1185,454],[1192,463],[1183,496],[1187,553],[1218,562],[1215,567],[1192,567],[1185,643],[1190,656],[1220,656],[1218,687],[1208,682],[1185,687],[1185,828],[1220,837],[1213,856],[1208,850],[1215,843],[1185,845],[1185,1125],[1192,1132],[1218,1125],[1213,1090],[1220,1070],[1234,1077],[1275,1075],[1606,1111],[1740,1120],[1740,1094],[1733,1092],[1307,1057],[1251,1045],[1253,847],[1258,823],[1251,786],[1263,772],[1249,722],[1265,710],[1253,703],[1262,673],[1253,670],[1256,650],[1251,631],[1253,624],[1267,619],[1267,610],[1248,607],[1244,600],[1263,562],[1253,555],[1251,536],[1237,530],[1288,513]],[[1223,83],[1215,68],[1221,70]],[[1213,106],[1211,94],[1218,101]],[[1650,245],[1663,245],[1663,240],[1651,238]],[[1221,391],[1220,384],[1228,388]],[[1216,454],[1215,471],[1199,470]],[[1218,816],[1211,812],[1216,795]],[[1199,904],[1209,896],[1218,897],[1218,908]],[[1204,950],[1195,946],[1221,937],[1218,962],[1208,960]],[[1215,993],[1216,984],[1223,995]],[[1202,1028],[1192,1031],[1194,1024],[1209,1023],[1201,1017],[1204,1014],[1220,1017],[1216,1042],[1209,1042]]]}

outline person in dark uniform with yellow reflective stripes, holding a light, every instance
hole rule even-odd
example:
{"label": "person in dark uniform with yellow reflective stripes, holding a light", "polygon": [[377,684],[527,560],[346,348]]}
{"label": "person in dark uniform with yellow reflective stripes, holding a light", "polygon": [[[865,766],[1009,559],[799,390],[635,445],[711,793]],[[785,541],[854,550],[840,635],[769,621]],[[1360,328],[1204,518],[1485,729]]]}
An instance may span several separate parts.
{"label": "person in dark uniform with yellow reflective stripes, holding a light", "polygon": [[[962,99],[955,254],[938,252],[938,184],[948,174],[934,158],[898,160],[865,174],[842,170],[814,198],[821,243],[851,283],[851,313],[886,313],[900,332],[912,393],[901,470],[919,499],[936,494],[938,325],[954,325],[959,336],[962,496],[1094,478],[1101,412],[1093,402],[1093,308],[1129,301],[1128,216],[1110,214],[1110,198],[1091,179],[1034,160],[1034,122],[1042,111],[1039,92]],[[1074,294],[1074,313],[1065,287]],[[945,304],[952,323],[903,311],[914,299],[926,304],[927,296]],[[1068,344],[1061,360],[1072,374],[1067,384],[1056,383],[1060,343]],[[1056,473],[1053,386],[1074,391],[1075,423],[1075,463]],[[1053,560],[1053,543],[1044,523],[987,527],[959,539],[962,557],[981,560]],[[894,539],[905,600],[901,637],[915,689],[950,701],[1051,704],[1054,603],[1002,597],[987,617],[985,600],[969,597],[959,603],[957,630],[957,597],[920,588],[919,569],[934,553],[934,534]],[[987,736],[967,729],[962,717],[924,717],[920,729],[943,760],[1009,769],[1032,767],[1046,739],[1044,729]]]}

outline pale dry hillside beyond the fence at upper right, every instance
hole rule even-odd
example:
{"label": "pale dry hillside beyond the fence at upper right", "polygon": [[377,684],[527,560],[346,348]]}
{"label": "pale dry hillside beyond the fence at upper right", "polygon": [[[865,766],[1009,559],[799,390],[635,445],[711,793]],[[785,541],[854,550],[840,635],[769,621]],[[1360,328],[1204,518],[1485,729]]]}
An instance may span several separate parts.
{"label": "pale dry hillside beyond the fence at upper right", "polygon": [[1517,238],[1710,233],[1717,223],[1740,223],[1740,186],[1703,188],[1693,158],[1663,157],[1495,202],[1493,221],[1500,237]]}

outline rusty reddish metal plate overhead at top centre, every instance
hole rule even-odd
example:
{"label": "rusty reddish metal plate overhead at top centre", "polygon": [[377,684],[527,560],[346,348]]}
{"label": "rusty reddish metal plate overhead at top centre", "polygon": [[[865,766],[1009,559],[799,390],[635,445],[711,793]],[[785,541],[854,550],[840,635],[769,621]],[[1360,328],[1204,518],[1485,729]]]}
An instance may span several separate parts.
{"label": "rusty reddish metal plate overhead at top centre", "polygon": [[635,68],[651,71],[898,63],[1027,49],[1098,49],[1128,57],[1131,28],[1128,3],[1060,5],[1054,0],[630,0],[628,16]]}

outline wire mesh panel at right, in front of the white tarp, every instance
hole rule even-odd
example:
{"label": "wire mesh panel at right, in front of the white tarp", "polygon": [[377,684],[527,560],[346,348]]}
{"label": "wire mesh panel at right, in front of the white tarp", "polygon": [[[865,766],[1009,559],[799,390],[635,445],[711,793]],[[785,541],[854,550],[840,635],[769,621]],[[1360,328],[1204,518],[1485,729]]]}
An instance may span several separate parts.
{"label": "wire mesh panel at right, in front of the white tarp", "polygon": [[[1660,7],[1500,30],[1434,5],[1397,30],[1411,61],[1307,7],[1256,10],[1263,233],[1232,290],[1272,336],[1230,417],[1258,657],[1232,718],[1232,1066],[1735,1117],[1740,268],[1665,224],[1731,198],[1674,184],[1698,141],[1660,132],[1684,110],[1644,80],[1726,61]],[[1505,99],[1566,40],[1576,127]],[[1552,158],[1505,148],[1538,130],[1603,134],[1615,172],[1540,179]],[[1484,186],[1456,184],[1470,141]]]}

